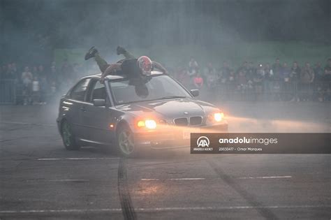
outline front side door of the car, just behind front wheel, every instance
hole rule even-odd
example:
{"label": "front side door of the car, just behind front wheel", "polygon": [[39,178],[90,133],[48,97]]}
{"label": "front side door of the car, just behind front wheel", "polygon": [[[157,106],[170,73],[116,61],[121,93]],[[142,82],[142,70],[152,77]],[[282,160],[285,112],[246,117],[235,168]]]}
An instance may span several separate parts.
{"label": "front side door of the car, just behind front wheel", "polygon": [[[105,106],[94,106],[94,99],[105,99]],[[109,142],[111,114],[109,110],[110,102],[107,98],[105,85],[99,80],[91,80],[87,91],[86,110],[83,114],[84,124],[89,132],[89,141],[97,144]]]}

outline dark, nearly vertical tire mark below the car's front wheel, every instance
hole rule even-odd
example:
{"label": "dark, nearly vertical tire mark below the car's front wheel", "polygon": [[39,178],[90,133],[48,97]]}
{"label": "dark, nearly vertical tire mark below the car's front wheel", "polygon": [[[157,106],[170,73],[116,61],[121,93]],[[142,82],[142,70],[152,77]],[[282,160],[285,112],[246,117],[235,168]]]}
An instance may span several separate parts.
{"label": "dark, nearly vertical tire mark below the car's front wheel", "polygon": [[137,219],[135,210],[132,205],[130,191],[128,190],[128,182],[126,175],[126,159],[119,159],[119,170],[118,170],[118,191],[119,201],[121,202],[122,213],[124,219],[131,220]]}

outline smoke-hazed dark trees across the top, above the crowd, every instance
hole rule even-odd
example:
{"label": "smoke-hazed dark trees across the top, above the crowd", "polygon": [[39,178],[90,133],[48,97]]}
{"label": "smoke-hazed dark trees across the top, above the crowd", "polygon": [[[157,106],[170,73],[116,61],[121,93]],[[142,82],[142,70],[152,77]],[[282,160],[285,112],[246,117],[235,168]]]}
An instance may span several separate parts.
{"label": "smoke-hazed dark trees across the top, above the crowd", "polygon": [[[330,44],[330,1],[1,0],[0,59],[51,59],[57,48]],[[41,54],[29,56],[29,54]]]}

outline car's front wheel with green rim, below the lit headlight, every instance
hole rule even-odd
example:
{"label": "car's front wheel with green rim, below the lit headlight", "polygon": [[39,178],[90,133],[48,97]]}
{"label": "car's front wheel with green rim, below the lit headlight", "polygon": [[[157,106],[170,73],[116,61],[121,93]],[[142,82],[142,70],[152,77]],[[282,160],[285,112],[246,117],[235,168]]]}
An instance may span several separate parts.
{"label": "car's front wheel with green rim, below the lit headlight", "polygon": [[117,152],[120,156],[133,157],[137,155],[137,152],[135,151],[133,133],[127,125],[122,125],[117,130],[116,143]]}

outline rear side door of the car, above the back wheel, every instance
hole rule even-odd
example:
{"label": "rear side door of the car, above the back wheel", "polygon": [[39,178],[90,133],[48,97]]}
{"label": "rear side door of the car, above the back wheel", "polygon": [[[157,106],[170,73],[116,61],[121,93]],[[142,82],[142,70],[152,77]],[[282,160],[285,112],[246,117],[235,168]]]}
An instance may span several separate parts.
{"label": "rear side door of the car, above the back wheel", "polygon": [[73,133],[78,139],[89,139],[89,133],[84,129],[84,112],[86,111],[86,94],[91,78],[80,80],[71,90],[68,96],[68,103],[71,103],[68,120],[72,125]]}

